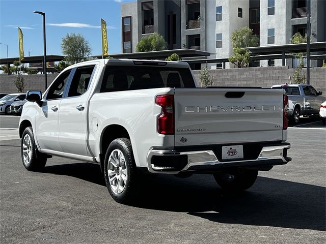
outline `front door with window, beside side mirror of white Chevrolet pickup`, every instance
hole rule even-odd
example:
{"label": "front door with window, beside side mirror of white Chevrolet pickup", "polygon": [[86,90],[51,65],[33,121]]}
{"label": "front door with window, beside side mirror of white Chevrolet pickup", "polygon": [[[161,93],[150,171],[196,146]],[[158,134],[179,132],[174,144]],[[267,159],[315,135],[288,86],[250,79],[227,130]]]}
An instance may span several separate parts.
{"label": "front door with window, beside side mirror of white Chevrolet pickup", "polygon": [[70,70],[56,78],[44,94],[42,106],[37,111],[35,130],[40,149],[62,151],[59,143],[58,114],[69,76]]}

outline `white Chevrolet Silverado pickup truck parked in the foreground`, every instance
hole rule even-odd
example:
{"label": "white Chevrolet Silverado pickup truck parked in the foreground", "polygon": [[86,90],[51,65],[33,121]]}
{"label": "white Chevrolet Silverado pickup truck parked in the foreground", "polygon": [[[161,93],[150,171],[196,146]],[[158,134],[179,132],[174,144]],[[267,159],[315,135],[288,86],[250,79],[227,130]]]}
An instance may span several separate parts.
{"label": "white Chevrolet Silverado pickup truck parked in the foreground", "polygon": [[26,99],[25,168],[41,170],[52,155],[98,164],[121,203],[134,199],[143,171],[211,173],[223,189],[239,191],[258,170],[291,160],[283,89],[196,87],[186,63],[92,60]]}

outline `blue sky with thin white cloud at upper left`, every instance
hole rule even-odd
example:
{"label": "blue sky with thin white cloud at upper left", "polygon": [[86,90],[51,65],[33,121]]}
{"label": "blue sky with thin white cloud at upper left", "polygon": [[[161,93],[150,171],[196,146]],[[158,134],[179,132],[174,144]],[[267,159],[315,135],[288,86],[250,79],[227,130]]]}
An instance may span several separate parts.
{"label": "blue sky with thin white cloud at upper left", "polygon": [[[8,44],[9,57],[17,57],[18,26],[24,35],[24,54],[43,55],[42,15],[46,14],[46,53],[62,55],[61,40],[67,33],[81,34],[101,55],[100,18],[106,21],[109,53],[121,53],[121,2],[135,0],[0,0],[0,43]],[[0,44],[0,57],[7,48]]]}

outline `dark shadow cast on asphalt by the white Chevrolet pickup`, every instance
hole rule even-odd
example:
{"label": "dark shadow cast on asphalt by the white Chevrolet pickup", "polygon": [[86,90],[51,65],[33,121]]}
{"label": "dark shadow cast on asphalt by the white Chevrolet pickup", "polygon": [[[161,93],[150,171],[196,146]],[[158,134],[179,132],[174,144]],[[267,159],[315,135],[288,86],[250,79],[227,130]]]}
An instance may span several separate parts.
{"label": "dark shadow cast on asphalt by the white Chevrolet pickup", "polygon": [[[65,164],[45,167],[45,172],[69,175],[100,186],[105,182],[96,165]],[[134,207],[187,212],[212,222],[324,231],[324,187],[258,177],[246,192],[227,194],[212,175],[189,178],[144,175]],[[106,189],[105,189],[106,190]],[[108,200],[111,200],[107,194]]]}

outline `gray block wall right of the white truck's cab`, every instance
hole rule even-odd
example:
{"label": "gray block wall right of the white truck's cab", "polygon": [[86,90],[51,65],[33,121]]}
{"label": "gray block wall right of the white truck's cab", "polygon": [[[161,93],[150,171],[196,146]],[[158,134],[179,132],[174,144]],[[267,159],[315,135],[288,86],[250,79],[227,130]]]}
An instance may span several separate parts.
{"label": "gray block wall right of the white truck's cab", "polygon": [[[213,77],[213,86],[261,86],[290,83],[289,76],[293,80],[295,69],[287,66],[257,67],[242,69],[216,69],[210,70]],[[194,76],[200,84],[199,70],[195,70]],[[306,69],[302,72],[306,74]],[[326,68],[310,68],[310,84],[316,90],[326,94]]]}

